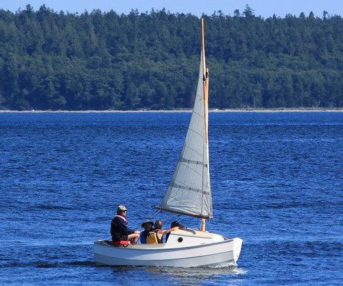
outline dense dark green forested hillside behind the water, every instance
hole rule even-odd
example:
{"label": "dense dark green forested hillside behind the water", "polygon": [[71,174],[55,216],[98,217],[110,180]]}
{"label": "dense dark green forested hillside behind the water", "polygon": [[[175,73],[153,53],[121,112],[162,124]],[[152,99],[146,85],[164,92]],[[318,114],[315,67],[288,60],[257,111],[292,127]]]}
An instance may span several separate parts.
{"label": "dense dark green forested hillside behind the water", "polygon": [[[203,16],[210,108],[343,107],[343,21]],[[190,108],[201,24],[191,14],[0,10],[0,108]]]}

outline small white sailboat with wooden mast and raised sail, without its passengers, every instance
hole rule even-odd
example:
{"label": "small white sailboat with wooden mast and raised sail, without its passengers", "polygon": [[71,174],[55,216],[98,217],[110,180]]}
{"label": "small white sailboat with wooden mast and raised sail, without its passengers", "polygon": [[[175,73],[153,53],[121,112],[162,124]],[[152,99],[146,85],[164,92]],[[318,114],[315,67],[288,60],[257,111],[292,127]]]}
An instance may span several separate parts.
{"label": "small white sailboat with wooden mast and raised sail, without its passengers", "polygon": [[160,206],[161,211],[201,219],[200,230],[181,228],[170,233],[166,243],[113,246],[105,240],[94,243],[97,265],[135,265],[167,267],[200,267],[236,263],[242,239],[227,239],[205,230],[206,219],[213,219],[209,175],[208,130],[209,70],[202,51],[196,99],[185,143],[174,175]]}

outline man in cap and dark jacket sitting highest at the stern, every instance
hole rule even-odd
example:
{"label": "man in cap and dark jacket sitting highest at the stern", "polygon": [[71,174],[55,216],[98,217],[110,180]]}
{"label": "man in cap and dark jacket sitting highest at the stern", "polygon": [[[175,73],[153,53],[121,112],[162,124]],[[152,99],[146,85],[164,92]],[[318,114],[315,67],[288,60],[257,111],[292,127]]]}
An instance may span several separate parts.
{"label": "man in cap and dark jacket sitting highest at the stern", "polygon": [[110,234],[112,235],[112,241],[130,241],[130,243],[135,244],[141,232],[128,228],[128,222],[125,218],[126,211],[128,209],[125,206],[118,206],[117,215],[113,217],[110,223]]}

